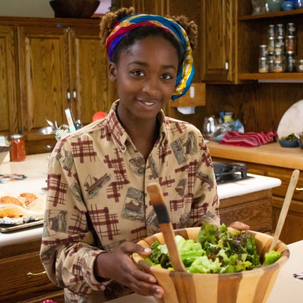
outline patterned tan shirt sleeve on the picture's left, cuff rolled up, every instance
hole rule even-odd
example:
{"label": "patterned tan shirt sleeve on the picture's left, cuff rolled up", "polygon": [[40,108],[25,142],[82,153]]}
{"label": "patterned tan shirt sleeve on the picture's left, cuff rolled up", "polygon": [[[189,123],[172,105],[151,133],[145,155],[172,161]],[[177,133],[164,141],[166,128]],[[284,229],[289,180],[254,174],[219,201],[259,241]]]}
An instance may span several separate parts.
{"label": "patterned tan shirt sleeve on the picture's left, cuff rolled up", "polygon": [[[57,146],[59,145],[58,142]],[[48,165],[40,259],[49,279],[81,296],[104,290],[94,277],[96,257],[75,163],[68,143],[56,147]]]}

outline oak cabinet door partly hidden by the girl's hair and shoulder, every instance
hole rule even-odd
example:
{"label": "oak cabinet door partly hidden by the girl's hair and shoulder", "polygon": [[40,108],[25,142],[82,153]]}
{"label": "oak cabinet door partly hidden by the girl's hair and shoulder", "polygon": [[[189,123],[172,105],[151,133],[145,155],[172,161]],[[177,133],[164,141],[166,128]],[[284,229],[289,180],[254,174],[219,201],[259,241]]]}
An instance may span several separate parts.
{"label": "oak cabinet door partly hidden by the girl's hair and shoulder", "polygon": [[98,27],[73,28],[70,34],[74,116],[89,124],[95,112],[107,112],[115,101],[109,93],[107,53],[100,43]]}

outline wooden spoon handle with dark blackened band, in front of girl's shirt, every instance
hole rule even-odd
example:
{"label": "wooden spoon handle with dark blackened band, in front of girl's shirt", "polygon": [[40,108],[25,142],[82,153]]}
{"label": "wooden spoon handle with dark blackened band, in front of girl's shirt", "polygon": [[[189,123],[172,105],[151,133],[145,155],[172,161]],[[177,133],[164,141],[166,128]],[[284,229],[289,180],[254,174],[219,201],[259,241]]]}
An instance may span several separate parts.
{"label": "wooden spoon handle with dark blackened band, in front of girl's shirt", "polygon": [[147,191],[151,204],[153,205],[157,214],[159,225],[169,251],[169,257],[172,261],[173,268],[175,271],[187,272],[179,255],[173,225],[170,222],[162,189],[158,183],[150,183],[147,185]]}

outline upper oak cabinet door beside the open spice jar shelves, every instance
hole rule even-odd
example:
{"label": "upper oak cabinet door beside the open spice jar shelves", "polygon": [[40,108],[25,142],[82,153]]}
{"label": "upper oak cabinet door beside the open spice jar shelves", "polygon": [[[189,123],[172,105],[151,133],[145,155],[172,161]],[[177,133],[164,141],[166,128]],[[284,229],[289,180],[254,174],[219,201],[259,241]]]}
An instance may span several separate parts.
{"label": "upper oak cabinet door beside the open spice jar shelves", "polygon": [[203,81],[231,82],[234,70],[235,2],[204,0],[202,6]]}

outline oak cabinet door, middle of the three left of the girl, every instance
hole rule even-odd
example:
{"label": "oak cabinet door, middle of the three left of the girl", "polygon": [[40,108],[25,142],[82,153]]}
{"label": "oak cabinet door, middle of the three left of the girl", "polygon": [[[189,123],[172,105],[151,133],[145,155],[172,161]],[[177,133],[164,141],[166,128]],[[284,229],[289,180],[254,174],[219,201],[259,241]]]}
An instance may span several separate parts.
{"label": "oak cabinet door, middle of the three left of the girl", "polygon": [[38,129],[47,126],[45,119],[66,123],[68,32],[55,25],[22,26],[18,38],[22,128],[28,140],[41,140]]}

